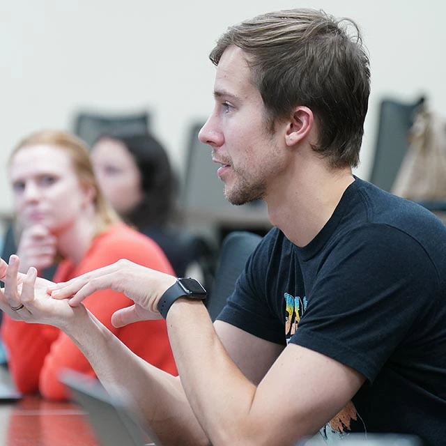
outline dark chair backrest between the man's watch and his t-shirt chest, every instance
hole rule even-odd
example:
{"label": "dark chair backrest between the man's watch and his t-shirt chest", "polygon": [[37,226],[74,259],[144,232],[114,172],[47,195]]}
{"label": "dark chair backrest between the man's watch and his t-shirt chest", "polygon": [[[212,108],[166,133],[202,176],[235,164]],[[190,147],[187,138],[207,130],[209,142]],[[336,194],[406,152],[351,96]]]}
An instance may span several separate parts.
{"label": "dark chair backrest between the man's watch and his t-shirt chest", "polygon": [[215,270],[213,288],[206,300],[210,318],[220,314],[227,298],[236,286],[238,276],[245,268],[248,257],[259,245],[261,236],[247,231],[233,231],[223,240]]}

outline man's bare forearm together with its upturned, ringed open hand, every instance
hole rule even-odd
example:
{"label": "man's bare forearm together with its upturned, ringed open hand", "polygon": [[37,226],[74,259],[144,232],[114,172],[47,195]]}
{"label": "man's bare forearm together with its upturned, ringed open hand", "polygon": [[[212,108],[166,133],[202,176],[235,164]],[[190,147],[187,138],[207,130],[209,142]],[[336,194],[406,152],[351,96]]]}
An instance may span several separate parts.
{"label": "man's bare forearm together with its upturned, ringed open hand", "polygon": [[0,291],[3,312],[15,320],[47,323],[66,332],[107,390],[125,387],[133,409],[150,423],[163,444],[209,444],[177,377],[141,360],[83,305],[73,308],[68,300],[51,298],[47,288],[52,282],[36,278],[35,268],[26,275],[18,273],[18,263],[16,256],[9,267],[0,259],[0,278],[5,282]]}

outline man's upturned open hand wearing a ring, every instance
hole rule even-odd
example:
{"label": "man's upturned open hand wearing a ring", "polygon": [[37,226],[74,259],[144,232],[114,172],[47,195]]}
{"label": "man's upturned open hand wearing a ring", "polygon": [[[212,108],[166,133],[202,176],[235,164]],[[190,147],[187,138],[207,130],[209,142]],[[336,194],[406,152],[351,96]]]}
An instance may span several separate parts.
{"label": "man's upturned open hand wearing a ring", "polygon": [[54,300],[48,293],[49,280],[37,277],[36,268],[29,268],[26,274],[19,272],[20,260],[10,256],[9,265],[0,259],[0,279],[5,282],[0,291],[0,308],[15,321],[44,323],[62,330],[75,316],[86,312],[82,306],[73,309],[66,300]]}

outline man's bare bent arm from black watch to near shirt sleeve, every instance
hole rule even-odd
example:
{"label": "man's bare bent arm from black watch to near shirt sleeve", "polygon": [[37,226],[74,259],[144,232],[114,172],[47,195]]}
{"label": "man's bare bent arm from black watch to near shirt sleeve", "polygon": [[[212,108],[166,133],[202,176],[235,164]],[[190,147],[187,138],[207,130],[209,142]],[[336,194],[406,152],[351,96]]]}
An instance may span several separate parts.
{"label": "man's bare bent arm from black watch to near shirt sleeve", "polygon": [[294,445],[364,383],[357,371],[290,344],[256,386],[229,357],[201,302],[177,300],[167,325],[185,394],[214,446]]}

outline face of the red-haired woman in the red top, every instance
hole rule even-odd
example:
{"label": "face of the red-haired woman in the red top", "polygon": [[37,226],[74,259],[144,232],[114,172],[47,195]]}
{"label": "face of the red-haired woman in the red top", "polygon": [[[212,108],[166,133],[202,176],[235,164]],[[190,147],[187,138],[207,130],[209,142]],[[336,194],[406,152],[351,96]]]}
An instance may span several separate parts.
{"label": "face of the red-haired woman in the red top", "polygon": [[57,146],[21,148],[8,173],[22,227],[43,224],[57,235],[72,226],[93,200],[91,191],[79,183],[70,155]]}

